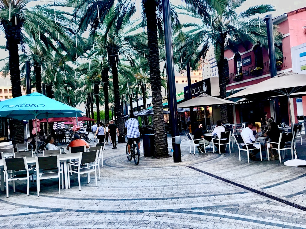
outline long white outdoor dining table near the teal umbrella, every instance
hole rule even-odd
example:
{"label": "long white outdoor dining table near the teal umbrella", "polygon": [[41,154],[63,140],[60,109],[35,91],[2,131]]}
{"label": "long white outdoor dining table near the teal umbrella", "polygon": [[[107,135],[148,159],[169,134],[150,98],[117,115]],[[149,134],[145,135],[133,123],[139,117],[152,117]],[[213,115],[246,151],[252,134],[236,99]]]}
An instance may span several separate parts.
{"label": "long white outdoor dining table near the teal umbrella", "polygon": [[[78,159],[80,158],[80,154],[78,153],[67,153],[67,154],[59,154],[59,160],[60,162],[63,162],[64,166],[63,166],[63,169],[64,169],[64,177],[65,177],[65,189],[68,189],[68,164],[67,162],[69,160],[73,160],[73,159]],[[27,157],[27,163],[29,165],[31,164],[35,164],[35,157]],[[0,176],[1,176],[1,191],[4,191],[4,173],[3,173],[3,161],[0,160]]]}

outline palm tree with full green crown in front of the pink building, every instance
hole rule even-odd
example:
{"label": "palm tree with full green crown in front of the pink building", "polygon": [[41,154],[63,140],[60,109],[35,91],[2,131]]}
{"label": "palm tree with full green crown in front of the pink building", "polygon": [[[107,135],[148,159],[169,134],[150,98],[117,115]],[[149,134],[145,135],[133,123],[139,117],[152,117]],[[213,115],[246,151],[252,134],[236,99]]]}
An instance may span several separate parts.
{"label": "palm tree with full green crown in front of the pink building", "polygon": [[[227,48],[233,53],[238,53],[239,44],[244,44],[245,49],[248,50],[247,45],[250,42],[267,46],[266,25],[263,23],[263,20],[261,20],[261,28],[259,29],[258,19],[254,18],[254,16],[274,11],[273,6],[256,5],[239,14],[236,13],[237,7],[243,2],[244,1],[228,2],[226,9],[219,13],[212,11],[211,17],[208,12],[199,14],[198,12],[200,9],[196,11],[180,7],[180,9],[188,10],[190,16],[202,19],[202,24],[186,23],[183,25],[183,27],[189,28],[189,31],[184,34],[185,39],[181,39],[181,41],[178,41],[181,43],[176,44],[179,46],[176,58],[183,53],[183,57],[185,58],[181,66],[186,66],[188,62],[191,62],[192,68],[194,69],[196,68],[196,64],[200,61],[200,58],[205,57],[209,45],[212,44],[218,66],[221,98],[226,97],[226,75],[224,72],[225,49]],[[249,17],[251,18],[250,20],[248,20]],[[179,36],[181,37],[181,34],[179,34]],[[274,32],[274,37],[275,43],[279,45],[282,42],[282,37],[276,30]],[[281,53],[277,47],[276,52],[277,54]],[[221,105],[221,121],[224,123],[228,122],[226,105]]]}

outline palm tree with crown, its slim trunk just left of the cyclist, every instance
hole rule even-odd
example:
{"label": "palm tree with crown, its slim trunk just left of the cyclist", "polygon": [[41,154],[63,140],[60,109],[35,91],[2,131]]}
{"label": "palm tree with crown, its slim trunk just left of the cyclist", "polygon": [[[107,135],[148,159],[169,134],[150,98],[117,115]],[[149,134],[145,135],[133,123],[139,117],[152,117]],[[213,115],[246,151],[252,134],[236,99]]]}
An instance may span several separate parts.
{"label": "palm tree with crown, its slim trunk just left of the cyclist", "polygon": [[[96,5],[105,6],[102,4],[104,1],[94,2],[88,7],[86,6],[87,11],[84,13],[79,20],[79,30],[85,31],[88,27],[88,22],[91,26],[91,35],[95,37],[97,29],[99,26],[102,27],[103,36],[97,42],[99,45],[103,45],[107,50],[107,59],[110,65],[110,69],[113,77],[113,86],[114,86],[114,100],[115,100],[115,113],[117,118],[117,126],[120,134],[124,133],[124,122],[122,119],[122,112],[120,107],[120,90],[119,90],[119,80],[118,80],[118,65],[120,61],[120,56],[125,56],[126,59],[130,60],[130,52],[135,46],[141,47],[138,44],[141,42],[146,42],[143,34],[135,34],[135,28],[132,30],[125,31],[124,28],[129,27],[130,18],[134,13],[135,9],[133,3],[129,1],[119,1],[117,5],[113,5],[108,8],[107,13],[103,17],[100,12],[100,20],[104,20],[103,24],[98,23],[97,14],[92,14],[92,7],[96,8]],[[106,7],[106,6],[105,6]],[[106,10],[104,8],[103,10]],[[91,23],[91,21],[93,23]],[[96,23],[94,23],[96,22]],[[133,34],[131,34],[133,32]],[[137,46],[138,45],[138,46]],[[122,51],[121,51],[122,50]],[[122,136],[118,139],[119,142],[125,142]]]}

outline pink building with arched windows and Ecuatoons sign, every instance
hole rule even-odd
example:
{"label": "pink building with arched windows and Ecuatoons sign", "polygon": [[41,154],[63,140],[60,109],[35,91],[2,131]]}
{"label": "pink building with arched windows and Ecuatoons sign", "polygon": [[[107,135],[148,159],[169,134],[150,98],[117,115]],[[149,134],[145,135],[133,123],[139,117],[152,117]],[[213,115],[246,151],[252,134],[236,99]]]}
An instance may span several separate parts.
{"label": "pink building with arched windows and Ecuatoons sign", "polygon": [[[279,31],[283,34],[283,43],[278,47],[282,50],[283,57],[276,60],[277,74],[293,71],[295,63],[293,63],[292,48],[306,43],[305,18],[306,7],[284,13],[273,19],[273,24],[278,25]],[[268,50],[251,43],[245,46],[247,47],[240,45],[239,53],[236,55],[230,50],[225,51],[225,59],[228,63],[225,69],[228,77],[226,90],[229,94],[271,77]],[[294,117],[296,117],[296,99],[293,99],[293,102]],[[306,115],[306,96],[303,96],[303,105],[304,115]],[[239,123],[255,121],[264,111],[268,112],[268,117],[275,117],[276,122],[289,123],[287,100],[281,97],[256,103],[244,101],[234,105],[233,111],[229,113],[233,115],[233,122]]]}

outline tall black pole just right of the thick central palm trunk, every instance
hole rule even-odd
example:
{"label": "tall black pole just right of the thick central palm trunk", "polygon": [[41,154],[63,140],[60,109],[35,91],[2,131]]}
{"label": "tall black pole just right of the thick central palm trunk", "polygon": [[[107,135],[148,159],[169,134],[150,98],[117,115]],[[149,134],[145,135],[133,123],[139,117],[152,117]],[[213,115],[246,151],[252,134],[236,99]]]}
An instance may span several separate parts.
{"label": "tall black pole just right of the thick central palm trunk", "polygon": [[174,62],[173,62],[173,51],[172,51],[173,49],[172,47],[172,29],[171,29],[169,0],[162,0],[162,15],[164,18],[164,31],[165,31],[167,82],[168,82],[168,88],[169,88],[168,104],[170,108],[170,118],[171,118],[173,161],[182,162],[181,145],[175,144],[175,136],[179,136],[179,133],[178,133],[178,128],[177,128],[177,104],[176,104]]}

